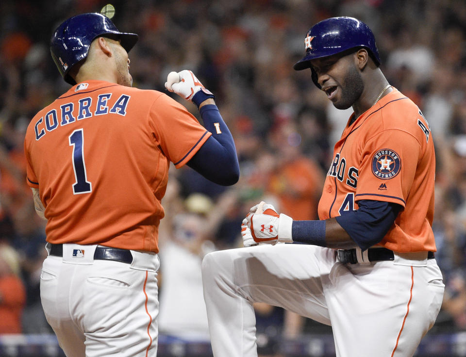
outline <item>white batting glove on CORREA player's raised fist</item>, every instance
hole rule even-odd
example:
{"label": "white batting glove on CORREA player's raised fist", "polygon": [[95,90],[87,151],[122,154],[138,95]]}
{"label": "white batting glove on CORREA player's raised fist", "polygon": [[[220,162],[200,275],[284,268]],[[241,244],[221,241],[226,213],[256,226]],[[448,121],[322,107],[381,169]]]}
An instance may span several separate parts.
{"label": "white batting glove on CORREA player's raised fist", "polygon": [[[202,91],[207,97],[214,97],[214,95],[209,90],[205,89],[205,87],[196,78],[193,72],[184,69],[177,74],[178,77],[175,75],[175,72],[168,73],[165,82],[165,88],[167,91],[176,93],[180,97],[191,101],[193,100],[195,94],[199,91]],[[194,104],[199,106],[200,103],[194,102]]]}

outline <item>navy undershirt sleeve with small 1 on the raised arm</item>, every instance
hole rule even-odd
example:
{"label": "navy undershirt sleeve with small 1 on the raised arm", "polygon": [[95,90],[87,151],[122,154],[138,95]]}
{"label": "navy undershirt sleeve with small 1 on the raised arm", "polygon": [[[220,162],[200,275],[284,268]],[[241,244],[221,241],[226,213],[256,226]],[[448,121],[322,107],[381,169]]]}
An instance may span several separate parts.
{"label": "navy undershirt sleeve with small 1 on the raised arm", "polygon": [[187,165],[219,185],[229,186],[239,179],[239,163],[233,136],[218,108],[207,104],[200,108],[205,129],[212,133]]}

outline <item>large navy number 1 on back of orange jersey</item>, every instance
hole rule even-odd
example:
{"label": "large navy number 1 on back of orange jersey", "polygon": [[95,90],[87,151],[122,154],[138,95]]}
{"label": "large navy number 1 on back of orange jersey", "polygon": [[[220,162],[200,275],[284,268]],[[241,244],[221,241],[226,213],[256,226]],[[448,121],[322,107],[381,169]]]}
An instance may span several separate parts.
{"label": "large navy number 1 on back of orange jersey", "polygon": [[74,130],[68,139],[69,146],[73,146],[73,170],[76,179],[73,184],[73,194],[87,194],[92,191],[92,186],[86,176],[83,129]]}

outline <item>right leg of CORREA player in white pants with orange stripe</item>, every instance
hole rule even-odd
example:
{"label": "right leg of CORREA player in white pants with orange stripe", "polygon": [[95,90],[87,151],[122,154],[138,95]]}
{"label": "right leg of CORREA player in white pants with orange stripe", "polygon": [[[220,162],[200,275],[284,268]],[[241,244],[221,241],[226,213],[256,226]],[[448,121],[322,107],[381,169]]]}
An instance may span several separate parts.
{"label": "right leg of CORREA player in white pants with orange stripe", "polygon": [[157,348],[157,279],[155,272],[129,264],[95,261],[86,277],[82,310],[86,357],[149,356]]}

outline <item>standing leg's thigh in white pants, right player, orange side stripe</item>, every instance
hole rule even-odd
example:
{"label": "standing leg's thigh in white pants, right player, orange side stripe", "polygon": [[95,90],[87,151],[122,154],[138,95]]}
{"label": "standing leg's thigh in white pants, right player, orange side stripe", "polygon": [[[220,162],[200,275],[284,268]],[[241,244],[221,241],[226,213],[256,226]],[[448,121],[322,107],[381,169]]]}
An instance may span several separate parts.
{"label": "standing leg's thigh in white pants, right player, orange side stripe", "polygon": [[337,356],[412,356],[441,305],[443,287],[429,286],[438,277],[390,261],[335,265],[324,290]]}

